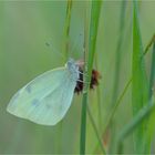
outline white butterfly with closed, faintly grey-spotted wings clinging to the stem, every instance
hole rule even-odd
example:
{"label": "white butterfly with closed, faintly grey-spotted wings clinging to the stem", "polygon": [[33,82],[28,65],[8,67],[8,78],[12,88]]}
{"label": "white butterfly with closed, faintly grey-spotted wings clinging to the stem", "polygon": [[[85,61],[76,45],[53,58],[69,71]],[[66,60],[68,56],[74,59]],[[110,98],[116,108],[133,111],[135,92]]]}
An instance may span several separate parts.
{"label": "white butterfly with closed, faintly grey-spotted wings clinging to the stem", "polygon": [[42,125],[55,125],[66,114],[73,99],[79,65],[70,59],[65,66],[32,80],[11,99],[7,111]]}

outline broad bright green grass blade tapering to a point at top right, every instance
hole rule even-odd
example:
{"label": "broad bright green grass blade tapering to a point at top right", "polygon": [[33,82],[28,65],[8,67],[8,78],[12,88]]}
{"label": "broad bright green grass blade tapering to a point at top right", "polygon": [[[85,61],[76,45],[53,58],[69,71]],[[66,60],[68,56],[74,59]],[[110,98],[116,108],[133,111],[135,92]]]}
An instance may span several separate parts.
{"label": "broad bright green grass blade tapering to a point at top right", "polygon": [[[132,106],[133,114],[136,115],[138,111],[148,101],[148,84],[146,73],[144,70],[144,56],[142,48],[142,38],[138,25],[138,10],[136,1],[133,2],[133,85],[132,85]],[[147,135],[145,134],[146,122],[141,124],[134,132],[134,152],[147,153],[148,147],[144,147]],[[147,147],[147,148],[146,148]]]}

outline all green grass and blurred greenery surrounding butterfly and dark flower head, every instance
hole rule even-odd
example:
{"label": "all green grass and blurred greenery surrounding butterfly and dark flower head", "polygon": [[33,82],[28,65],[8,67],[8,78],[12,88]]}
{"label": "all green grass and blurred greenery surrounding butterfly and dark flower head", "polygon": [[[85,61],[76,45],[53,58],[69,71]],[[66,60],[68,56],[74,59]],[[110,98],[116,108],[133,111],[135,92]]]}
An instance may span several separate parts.
{"label": "all green grass and blurred greenery surrounding butterfly and dark flower head", "polygon": [[[0,1],[0,154],[155,153],[154,8],[154,1]],[[84,93],[61,123],[46,127],[6,112],[20,87],[70,56],[83,59],[83,46]],[[102,79],[90,91],[92,69]]]}

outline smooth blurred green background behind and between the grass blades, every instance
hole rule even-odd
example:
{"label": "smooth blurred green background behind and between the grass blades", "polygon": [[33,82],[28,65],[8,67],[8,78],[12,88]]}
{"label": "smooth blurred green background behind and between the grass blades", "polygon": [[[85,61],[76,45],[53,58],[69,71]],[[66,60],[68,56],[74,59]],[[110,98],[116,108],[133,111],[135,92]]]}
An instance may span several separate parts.
{"label": "smooth blurred green background behind and between the grass blades", "polygon": [[[90,7],[90,6],[87,6]],[[84,1],[73,2],[71,12],[70,53],[82,58]],[[101,10],[96,64],[101,72],[99,90],[90,91],[90,107],[96,124],[102,126],[113,102],[131,78],[132,69],[132,3],[126,2],[124,39],[120,58],[118,89],[113,95],[116,70],[116,48],[120,31],[122,1],[104,1]],[[143,45],[146,46],[155,31],[155,2],[140,3],[140,22]],[[41,73],[64,65],[62,38],[65,21],[65,1],[0,1],[0,153],[79,153],[81,97],[74,95],[72,106],[61,123],[41,126],[6,112],[11,96]],[[81,35],[82,34],[82,35]],[[51,48],[46,46],[49,42]],[[149,73],[151,54],[146,55]],[[100,91],[101,113],[97,100]],[[131,120],[131,92],[123,99],[115,118],[118,132]],[[101,123],[101,122],[102,123]],[[100,127],[99,127],[100,128]],[[125,141],[125,152],[132,153],[132,137]],[[86,153],[96,148],[92,124],[87,117]]]}

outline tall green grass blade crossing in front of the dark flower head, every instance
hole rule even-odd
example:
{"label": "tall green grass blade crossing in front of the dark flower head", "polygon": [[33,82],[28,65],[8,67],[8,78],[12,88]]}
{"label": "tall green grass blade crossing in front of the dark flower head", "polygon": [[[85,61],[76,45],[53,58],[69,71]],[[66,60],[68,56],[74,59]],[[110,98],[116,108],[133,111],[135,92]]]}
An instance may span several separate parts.
{"label": "tall green grass blade crossing in front of the dark flower head", "polygon": [[90,87],[90,80],[93,68],[93,60],[95,53],[95,44],[97,37],[97,27],[99,27],[99,18],[101,10],[101,1],[92,1],[91,8],[91,23],[90,23],[90,37],[89,37],[89,52],[85,59],[85,78],[84,81],[84,90],[83,90],[83,100],[82,100],[82,117],[81,117],[81,141],[80,141],[80,154],[85,154],[85,136],[86,136],[86,103],[87,103],[87,91]]}

